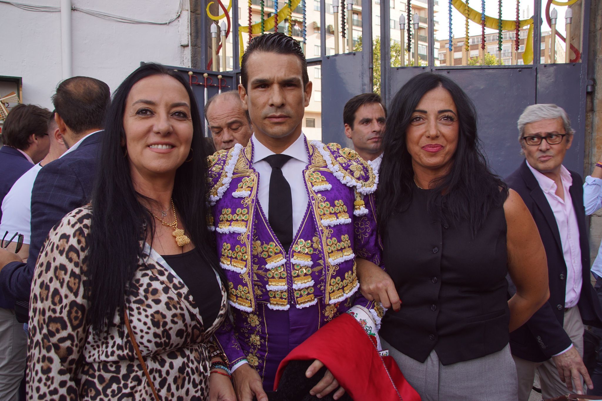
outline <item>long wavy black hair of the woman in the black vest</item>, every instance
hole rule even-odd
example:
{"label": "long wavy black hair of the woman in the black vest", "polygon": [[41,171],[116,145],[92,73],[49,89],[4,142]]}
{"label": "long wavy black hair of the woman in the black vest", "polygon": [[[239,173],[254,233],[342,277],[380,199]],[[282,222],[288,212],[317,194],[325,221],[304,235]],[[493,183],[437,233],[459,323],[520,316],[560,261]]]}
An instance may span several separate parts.
{"label": "long wavy black hair of the woman in the black vest", "polygon": [[429,212],[443,224],[468,221],[474,235],[489,211],[501,206],[507,198],[506,184],[491,173],[481,151],[476,111],[470,97],[444,75],[421,73],[403,85],[389,106],[377,191],[380,230],[385,229],[392,213],[406,210],[412,201],[414,169],[406,146],[406,129],[420,99],[438,87],[447,90],[456,104],[459,136],[450,171],[436,180],[434,190],[429,192]]}

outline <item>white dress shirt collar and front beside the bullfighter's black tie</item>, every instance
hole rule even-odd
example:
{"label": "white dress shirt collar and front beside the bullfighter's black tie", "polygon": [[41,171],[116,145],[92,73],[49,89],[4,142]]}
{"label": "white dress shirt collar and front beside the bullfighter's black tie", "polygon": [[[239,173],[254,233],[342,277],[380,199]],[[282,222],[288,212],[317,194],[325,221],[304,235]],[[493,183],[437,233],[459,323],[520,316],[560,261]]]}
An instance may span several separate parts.
{"label": "white dress shirt collar and front beside the bullfighter's black tie", "polygon": [[[253,168],[259,173],[257,197],[265,216],[269,216],[270,176],[272,176],[272,166],[270,166],[265,158],[270,155],[276,155],[276,153],[272,152],[265,147],[264,144],[259,142],[254,133],[251,140],[253,141]],[[299,138],[297,138],[297,140],[281,154],[291,156],[291,159],[282,166],[282,175],[287,179],[288,185],[291,186],[291,195],[293,197],[294,238],[309,203],[309,198],[305,189],[305,179],[303,178],[303,170],[305,170],[309,164],[307,148],[305,147],[305,135],[301,133]]]}

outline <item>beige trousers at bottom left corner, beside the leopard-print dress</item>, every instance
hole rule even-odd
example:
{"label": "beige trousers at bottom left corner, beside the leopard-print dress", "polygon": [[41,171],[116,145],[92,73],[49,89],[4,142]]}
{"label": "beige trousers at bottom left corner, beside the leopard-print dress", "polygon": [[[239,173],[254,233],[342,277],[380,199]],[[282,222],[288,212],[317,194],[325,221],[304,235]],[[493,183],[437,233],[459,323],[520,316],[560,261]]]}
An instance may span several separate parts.
{"label": "beige trousers at bottom left corner, beside the leopard-print dress", "polygon": [[12,309],[0,308],[0,400],[19,399],[19,384],[25,373],[27,335]]}

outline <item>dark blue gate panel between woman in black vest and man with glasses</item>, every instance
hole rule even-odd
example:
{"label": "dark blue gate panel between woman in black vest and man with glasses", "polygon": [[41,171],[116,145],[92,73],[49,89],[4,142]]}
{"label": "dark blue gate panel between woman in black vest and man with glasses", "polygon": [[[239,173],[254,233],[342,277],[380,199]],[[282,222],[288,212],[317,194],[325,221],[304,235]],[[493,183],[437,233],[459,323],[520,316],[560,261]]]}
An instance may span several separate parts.
{"label": "dark blue gate panel between woman in black vest and man with glasses", "polygon": [[524,160],[517,120],[535,103],[535,69],[436,70],[447,74],[470,96],[477,109],[479,138],[492,170],[506,177]]}

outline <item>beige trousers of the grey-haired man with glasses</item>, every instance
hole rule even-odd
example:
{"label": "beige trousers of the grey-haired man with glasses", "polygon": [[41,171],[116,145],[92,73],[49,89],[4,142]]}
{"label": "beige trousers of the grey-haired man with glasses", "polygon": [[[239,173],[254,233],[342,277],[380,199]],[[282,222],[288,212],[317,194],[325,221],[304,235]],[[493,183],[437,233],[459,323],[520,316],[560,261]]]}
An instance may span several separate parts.
{"label": "beige trousers of the grey-haired man with glasses", "polygon": [[[583,320],[579,308],[569,308],[564,313],[563,328],[571,337],[573,346],[583,358]],[[541,384],[541,396],[543,399],[560,397],[563,394],[575,393],[575,384],[573,383],[573,391],[568,391],[566,383],[560,380],[556,364],[551,358],[544,362],[532,362],[513,355],[514,362],[517,366],[518,375],[518,399],[520,401],[529,400],[531,388],[533,387],[533,379],[535,378],[535,370],[539,373],[539,383]],[[583,385],[583,382],[582,382]],[[583,389],[585,390],[585,386]]]}

